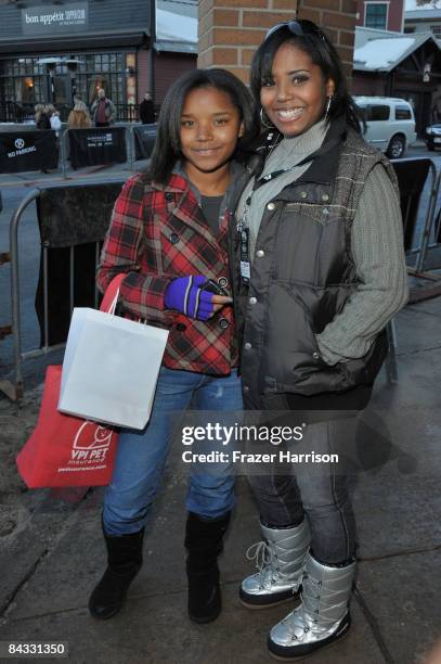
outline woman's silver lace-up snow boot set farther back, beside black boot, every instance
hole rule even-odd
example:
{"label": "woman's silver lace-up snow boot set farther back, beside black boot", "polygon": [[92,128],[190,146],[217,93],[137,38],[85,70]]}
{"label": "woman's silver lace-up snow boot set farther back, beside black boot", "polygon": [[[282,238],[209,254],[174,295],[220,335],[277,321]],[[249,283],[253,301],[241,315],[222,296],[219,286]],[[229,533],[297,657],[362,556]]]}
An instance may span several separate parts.
{"label": "woman's silver lace-up snow boot set farther back, beside black boot", "polygon": [[306,519],[293,528],[269,528],[260,524],[260,529],[263,540],[247,551],[248,560],[256,560],[259,572],[247,576],[239,590],[242,603],[250,609],[273,606],[293,599],[300,589],[311,542]]}

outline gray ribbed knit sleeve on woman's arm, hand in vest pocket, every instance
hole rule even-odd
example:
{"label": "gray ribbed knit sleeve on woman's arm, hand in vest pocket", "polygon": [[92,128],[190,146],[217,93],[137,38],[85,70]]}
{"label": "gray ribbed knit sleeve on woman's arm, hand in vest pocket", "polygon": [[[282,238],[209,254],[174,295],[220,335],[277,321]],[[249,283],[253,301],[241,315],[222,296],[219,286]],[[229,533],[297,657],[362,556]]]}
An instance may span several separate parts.
{"label": "gray ribbed knit sleeve on woman's arm, hand in vest pocket", "polygon": [[400,202],[381,164],[368,175],[351,232],[360,286],[316,335],[328,365],[360,358],[407,302],[407,272]]}

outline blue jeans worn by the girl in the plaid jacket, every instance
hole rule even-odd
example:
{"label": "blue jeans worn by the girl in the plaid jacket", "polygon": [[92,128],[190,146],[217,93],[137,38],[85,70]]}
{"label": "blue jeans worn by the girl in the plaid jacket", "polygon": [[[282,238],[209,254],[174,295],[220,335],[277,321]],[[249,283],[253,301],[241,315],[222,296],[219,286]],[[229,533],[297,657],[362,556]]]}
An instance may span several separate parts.
{"label": "blue jeans worn by the girl in the plaid jacket", "polygon": [[[106,535],[137,533],[146,523],[159,487],[170,448],[173,411],[242,410],[237,370],[228,376],[210,376],[161,367],[148,424],[143,431],[124,430],[112,484],[104,495]],[[186,509],[216,519],[234,506],[234,476],[222,467],[219,473],[190,475]]]}

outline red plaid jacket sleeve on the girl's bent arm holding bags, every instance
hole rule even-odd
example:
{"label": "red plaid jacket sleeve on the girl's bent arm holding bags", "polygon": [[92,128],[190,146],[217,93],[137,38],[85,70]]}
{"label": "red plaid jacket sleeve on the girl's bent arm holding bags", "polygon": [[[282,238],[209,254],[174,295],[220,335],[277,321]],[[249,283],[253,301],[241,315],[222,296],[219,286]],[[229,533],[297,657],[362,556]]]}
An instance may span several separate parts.
{"label": "red plaid jacket sleeve on the girl's bent arm holding bags", "polygon": [[125,308],[137,317],[166,323],[170,314],[165,310],[164,295],[174,276],[157,276],[153,254],[151,273],[146,271],[145,265],[141,266],[140,255],[144,251],[145,242],[143,203],[144,182],[139,176],[134,176],[125,183],[115,203],[96,282],[104,291],[115,274],[127,272],[120,289]]}

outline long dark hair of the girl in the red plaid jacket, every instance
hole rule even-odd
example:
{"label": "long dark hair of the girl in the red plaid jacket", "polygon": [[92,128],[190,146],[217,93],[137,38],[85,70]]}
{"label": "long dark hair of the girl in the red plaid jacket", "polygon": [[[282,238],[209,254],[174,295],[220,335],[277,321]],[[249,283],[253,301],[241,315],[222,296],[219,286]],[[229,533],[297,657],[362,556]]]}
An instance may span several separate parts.
{"label": "long dark hair of the girl in the red plaid jacket", "polygon": [[155,146],[147,170],[151,179],[161,184],[169,181],[174,164],[182,156],[180,132],[185,98],[192,90],[209,87],[229,94],[239,112],[244,135],[238,141],[236,152],[246,150],[246,145],[259,135],[260,123],[252,97],[236,76],[218,68],[186,72],[169,88],[160,107]]}

